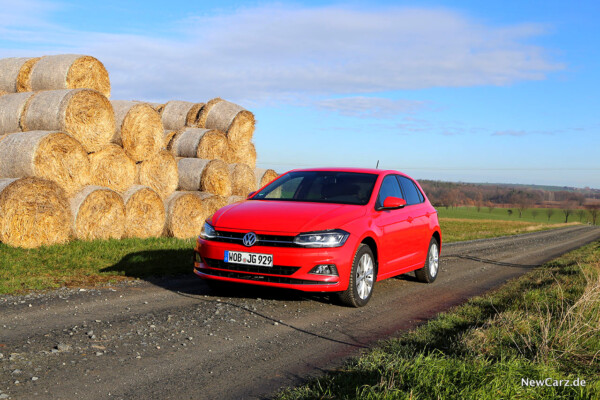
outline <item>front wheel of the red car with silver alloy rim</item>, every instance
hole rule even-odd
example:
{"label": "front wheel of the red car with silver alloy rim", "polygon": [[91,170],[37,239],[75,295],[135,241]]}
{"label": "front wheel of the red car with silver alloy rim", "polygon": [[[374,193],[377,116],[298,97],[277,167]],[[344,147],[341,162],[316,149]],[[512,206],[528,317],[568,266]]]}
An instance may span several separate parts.
{"label": "front wheel of the red car with silver alloy rim", "polygon": [[361,244],[352,260],[348,289],[339,293],[340,301],[350,307],[365,306],[373,295],[375,271],[375,257],[371,248]]}

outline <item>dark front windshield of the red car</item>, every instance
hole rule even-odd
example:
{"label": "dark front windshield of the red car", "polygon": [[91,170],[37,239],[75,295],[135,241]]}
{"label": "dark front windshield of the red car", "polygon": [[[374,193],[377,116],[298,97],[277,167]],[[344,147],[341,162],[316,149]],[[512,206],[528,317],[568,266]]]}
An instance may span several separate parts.
{"label": "dark front windshield of the red car", "polygon": [[285,174],[252,200],[307,201],[365,205],[377,175],[341,171],[296,171]]}

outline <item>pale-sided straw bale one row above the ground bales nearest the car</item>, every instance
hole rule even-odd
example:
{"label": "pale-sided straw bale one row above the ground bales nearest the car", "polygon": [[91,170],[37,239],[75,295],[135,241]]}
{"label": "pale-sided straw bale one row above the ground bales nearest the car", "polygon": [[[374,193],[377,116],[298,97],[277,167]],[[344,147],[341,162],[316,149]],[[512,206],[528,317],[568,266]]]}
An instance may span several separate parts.
{"label": "pale-sided straw bale one row above the ground bales nearest the car", "polygon": [[231,196],[229,168],[224,161],[181,158],[177,162],[177,167],[179,168],[178,190],[201,190],[219,196]]}

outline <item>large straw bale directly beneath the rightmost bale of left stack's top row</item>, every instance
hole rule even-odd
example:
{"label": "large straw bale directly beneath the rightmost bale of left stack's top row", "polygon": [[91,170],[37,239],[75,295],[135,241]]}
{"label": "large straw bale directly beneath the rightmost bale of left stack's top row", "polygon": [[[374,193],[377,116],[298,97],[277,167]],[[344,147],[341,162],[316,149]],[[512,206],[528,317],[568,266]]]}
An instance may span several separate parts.
{"label": "large straw bale directly beneath the rightmost bale of left stack's top row", "polygon": [[23,131],[65,132],[77,139],[87,152],[93,152],[110,142],[115,131],[115,116],[110,101],[95,90],[48,90],[35,93],[29,100],[21,128]]}

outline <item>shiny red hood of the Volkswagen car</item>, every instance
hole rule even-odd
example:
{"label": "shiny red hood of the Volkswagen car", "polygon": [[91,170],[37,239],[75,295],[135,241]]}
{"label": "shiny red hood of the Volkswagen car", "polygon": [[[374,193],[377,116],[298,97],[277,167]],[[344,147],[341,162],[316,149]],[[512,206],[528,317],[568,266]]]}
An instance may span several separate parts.
{"label": "shiny red hood of the Volkswagen car", "polygon": [[357,205],[248,200],[220,209],[212,224],[217,229],[298,234],[342,228],[365,212],[365,206]]}

